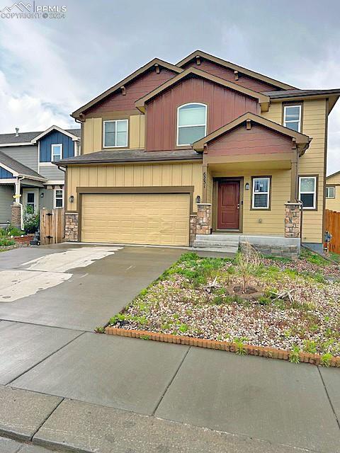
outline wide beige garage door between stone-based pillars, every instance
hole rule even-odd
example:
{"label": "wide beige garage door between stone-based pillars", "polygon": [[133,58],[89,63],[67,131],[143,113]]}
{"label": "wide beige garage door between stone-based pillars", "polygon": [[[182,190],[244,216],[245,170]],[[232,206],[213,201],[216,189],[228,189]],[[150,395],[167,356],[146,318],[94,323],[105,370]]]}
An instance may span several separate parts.
{"label": "wide beige garage door between stone-based pillars", "polygon": [[84,194],[81,241],[188,246],[189,215],[185,193]]}

